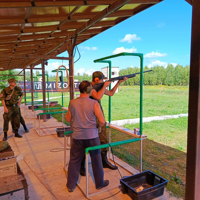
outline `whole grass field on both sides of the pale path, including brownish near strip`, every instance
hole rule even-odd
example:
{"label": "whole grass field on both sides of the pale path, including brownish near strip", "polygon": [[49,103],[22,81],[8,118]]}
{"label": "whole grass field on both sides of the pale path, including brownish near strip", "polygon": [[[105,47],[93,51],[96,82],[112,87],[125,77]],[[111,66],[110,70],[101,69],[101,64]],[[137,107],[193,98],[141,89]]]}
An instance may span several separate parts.
{"label": "whole grass field on both sides of the pale path, including brownish near strip", "polygon": [[[78,93],[76,93],[78,94]],[[30,95],[30,94],[28,94]],[[51,97],[61,93],[50,93]],[[64,94],[65,104],[69,104],[69,93]],[[111,120],[139,118],[139,86],[119,87],[119,93],[112,97]],[[42,94],[39,93],[39,98]],[[50,100],[51,101],[51,100]],[[61,105],[61,97],[52,99]],[[108,120],[108,97],[102,99],[106,120]],[[188,113],[188,87],[144,86],[143,117]],[[54,116],[56,117],[56,116]],[[139,124],[126,124],[133,130]],[[174,196],[184,198],[187,148],[187,117],[152,121],[143,124],[143,170],[152,170],[169,182],[167,189]],[[130,136],[112,130],[112,142],[129,139]],[[114,148],[114,153],[124,161],[139,169],[140,143]]]}

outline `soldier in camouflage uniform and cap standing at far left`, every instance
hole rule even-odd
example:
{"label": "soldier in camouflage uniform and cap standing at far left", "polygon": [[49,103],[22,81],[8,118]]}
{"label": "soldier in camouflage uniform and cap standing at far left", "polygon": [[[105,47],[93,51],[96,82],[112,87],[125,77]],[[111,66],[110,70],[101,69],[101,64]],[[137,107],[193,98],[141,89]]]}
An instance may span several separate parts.
{"label": "soldier in camouflage uniform and cap standing at far left", "polygon": [[7,140],[8,124],[10,120],[13,121],[14,124],[15,137],[22,137],[19,135],[18,129],[20,127],[19,105],[21,104],[23,93],[21,88],[16,86],[16,80],[14,78],[8,79],[8,82],[10,86],[4,88],[0,94],[0,100],[4,107],[3,141]]}

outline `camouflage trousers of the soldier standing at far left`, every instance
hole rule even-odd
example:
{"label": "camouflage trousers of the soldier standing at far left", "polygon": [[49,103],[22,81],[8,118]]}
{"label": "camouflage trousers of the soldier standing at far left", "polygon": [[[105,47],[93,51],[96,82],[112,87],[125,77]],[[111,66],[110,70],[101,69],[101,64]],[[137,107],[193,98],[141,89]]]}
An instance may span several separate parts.
{"label": "camouflage trousers of the soldier standing at far left", "polygon": [[3,114],[4,124],[3,124],[3,131],[8,131],[8,124],[11,120],[13,122],[14,129],[19,129],[20,122],[19,122],[19,107],[18,106],[6,106],[8,108],[8,113]]}

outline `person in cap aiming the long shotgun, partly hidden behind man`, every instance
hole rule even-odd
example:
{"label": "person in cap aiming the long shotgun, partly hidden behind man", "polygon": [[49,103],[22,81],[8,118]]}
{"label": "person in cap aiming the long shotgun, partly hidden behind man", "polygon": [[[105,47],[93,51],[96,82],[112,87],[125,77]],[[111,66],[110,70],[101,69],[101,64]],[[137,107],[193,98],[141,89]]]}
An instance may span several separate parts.
{"label": "person in cap aiming the long shotgun, partly hidden behind man", "polygon": [[[92,85],[103,83],[103,79],[107,79],[104,74],[101,71],[96,71],[92,74]],[[95,99],[99,102],[101,110],[103,112],[103,108],[101,106],[101,99],[104,94],[108,96],[113,96],[115,94],[115,91],[119,87],[119,84],[126,81],[128,78],[124,78],[123,80],[119,80],[116,85],[111,89],[107,90],[106,88],[110,85],[111,82],[106,81],[103,84],[103,87],[100,88],[98,91],[96,89],[92,90],[92,95],[90,98]],[[98,120],[97,120],[97,125],[98,125]],[[106,133],[106,123],[104,126],[101,127],[101,132],[99,133],[99,139],[101,144],[107,144],[108,143],[108,137]],[[101,149],[101,157],[102,157],[102,163],[104,168],[110,168],[112,170],[117,169],[117,166],[112,165],[108,159],[107,159],[107,148]],[[85,160],[82,161],[81,163],[81,169],[80,169],[80,174],[82,176],[85,176]]]}

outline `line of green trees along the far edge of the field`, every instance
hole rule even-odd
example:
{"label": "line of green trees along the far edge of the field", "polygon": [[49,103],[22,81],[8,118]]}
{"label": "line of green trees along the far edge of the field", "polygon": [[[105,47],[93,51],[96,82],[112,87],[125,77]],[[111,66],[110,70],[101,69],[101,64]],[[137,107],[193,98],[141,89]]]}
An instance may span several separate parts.
{"label": "line of green trees along the far edge of the field", "polygon": [[[143,83],[144,85],[167,85],[167,86],[173,86],[173,85],[182,85],[187,86],[189,85],[189,73],[190,73],[190,67],[187,65],[183,67],[182,65],[177,65],[174,67],[173,65],[168,65],[166,68],[163,66],[155,66],[155,67],[144,67],[144,71],[152,70],[152,72],[144,73],[143,76]],[[119,76],[124,76],[128,74],[134,74],[140,72],[139,67],[134,68],[126,68],[119,71]],[[1,71],[0,72],[0,89],[3,89],[7,84],[7,80],[9,78],[15,78],[18,81],[24,81],[23,76],[14,76],[18,74],[18,71],[15,70],[7,70],[7,71]],[[48,74],[48,71],[45,71],[46,74]],[[22,73],[23,74],[23,73]],[[33,74],[34,81],[38,81],[38,75],[40,74],[39,71],[35,71]],[[3,75],[3,76],[2,76]],[[79,82],[83,80],[89,80],[92,81],[92,76],[89,76],[88,74],[77,74],[74,76],[74,79],[78,80]],[[26,70],[26,80],[31,81],[30,71]],[[55,76],[49,76],[49,81],[56,81],[56,73]],[[64,76],[64,82],[67,81],[66,76]],[[127,81],[123,82],[121,85],[139,85],[140,84],[140,76],[137,75],[134,78],[130,78]]]}

